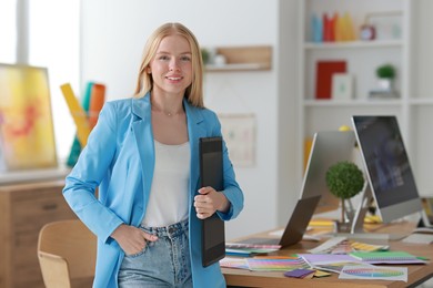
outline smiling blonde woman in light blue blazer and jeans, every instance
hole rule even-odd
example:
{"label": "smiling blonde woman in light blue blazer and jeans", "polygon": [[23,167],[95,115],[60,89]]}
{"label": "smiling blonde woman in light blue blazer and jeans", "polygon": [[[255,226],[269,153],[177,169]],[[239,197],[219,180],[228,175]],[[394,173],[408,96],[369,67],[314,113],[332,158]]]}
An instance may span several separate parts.
{"label": "smiling blonde woman in light blue blazer and jeans", "polygon": [[145,44],[134,96],[103,106],[63,189],[98,236],[94,287],[225,287],[218,263],[202,267],[200,220],[236,217],[243,194],[225,144],[223,191],[199,186],[199,138],[221,136],[202,83],[195,37],[167,23]]}

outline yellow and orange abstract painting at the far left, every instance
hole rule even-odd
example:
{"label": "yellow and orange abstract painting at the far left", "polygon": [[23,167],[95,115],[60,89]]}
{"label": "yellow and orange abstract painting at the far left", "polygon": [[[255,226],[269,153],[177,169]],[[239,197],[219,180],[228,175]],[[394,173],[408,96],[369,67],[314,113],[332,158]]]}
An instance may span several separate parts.
{"label": "yellow and orange abstract painting at the far left", "polygon": [[0,64],[0,168],[57,167],[48,70]]}

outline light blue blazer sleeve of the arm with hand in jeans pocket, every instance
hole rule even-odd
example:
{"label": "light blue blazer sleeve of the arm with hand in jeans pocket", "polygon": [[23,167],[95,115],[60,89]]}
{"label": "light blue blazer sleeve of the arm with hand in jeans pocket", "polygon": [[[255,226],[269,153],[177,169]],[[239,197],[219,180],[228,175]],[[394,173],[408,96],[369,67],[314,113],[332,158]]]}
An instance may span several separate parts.
{"label": "light blue blazer sleeve of the arm with hand in jeans pocket", "polygon": [[117,151],[117,119],[113,104],[107,102],[88,144],[66,178],[63,196],[77,216],[100,239],[107,241],[123,222],[97,199],[94,192],[108,176]]}

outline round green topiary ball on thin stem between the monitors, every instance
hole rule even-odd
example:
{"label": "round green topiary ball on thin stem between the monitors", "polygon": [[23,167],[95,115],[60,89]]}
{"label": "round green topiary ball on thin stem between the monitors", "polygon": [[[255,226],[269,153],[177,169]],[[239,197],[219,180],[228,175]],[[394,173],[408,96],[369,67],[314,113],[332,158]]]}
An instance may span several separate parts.
{"label": "round green topiary ball on thin stem between the monitors", "polygon": [[345,199],[352,198],[364,187],[364,175],[362,171],[348,161],[338,162],[329,167],[326,186],[330,192],[341,199],[341,225],[345,223]]}

